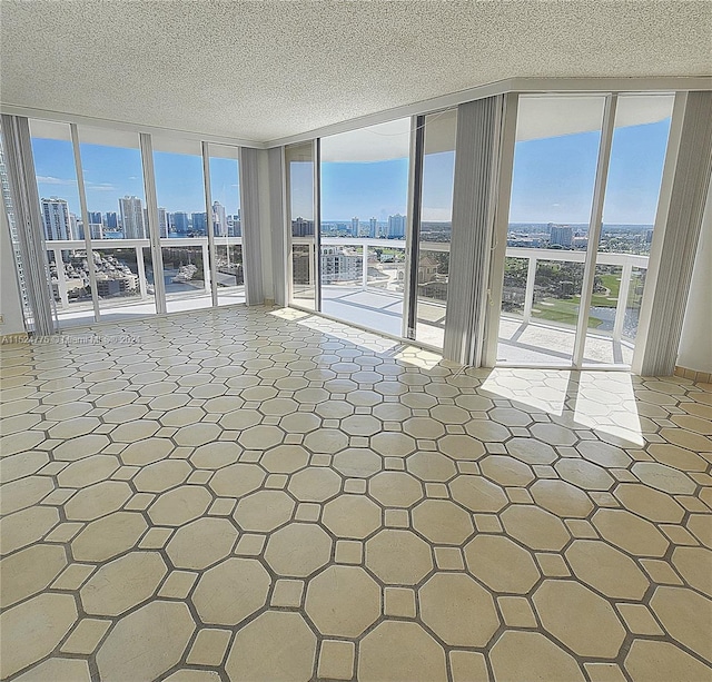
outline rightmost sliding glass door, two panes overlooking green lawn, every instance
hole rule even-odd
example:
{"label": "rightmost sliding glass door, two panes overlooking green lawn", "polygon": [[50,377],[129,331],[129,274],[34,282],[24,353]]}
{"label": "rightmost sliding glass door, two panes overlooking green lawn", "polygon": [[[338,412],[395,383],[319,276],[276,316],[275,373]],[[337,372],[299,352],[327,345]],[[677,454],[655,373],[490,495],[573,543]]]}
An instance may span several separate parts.
{"label": "rightmost sliding glass door, two panes overlooking green lawn", "polygon": [[631,364],[672,103],[520,96],[498,364]]}

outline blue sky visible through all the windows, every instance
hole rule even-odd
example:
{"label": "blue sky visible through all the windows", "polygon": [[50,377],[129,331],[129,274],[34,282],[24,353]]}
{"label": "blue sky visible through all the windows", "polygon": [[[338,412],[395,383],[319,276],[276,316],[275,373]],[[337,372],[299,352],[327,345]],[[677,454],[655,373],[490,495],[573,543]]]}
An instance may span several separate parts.
{"label": "blue sky visible through all the windows", "polygon": [[[653,223],[670,121],[619,128],[613,140],[604,221]],[[597,132],[517,142],[512,187],[512,223],[587,223],[599,149]],[[33,139],[40,196],[59,196],[79,214],[71,144]],[[423,181],[423,219],[448,220],[452,206],[452,152],[428,155]],[[118,210],[118,198],[144,197],[138,149],[82,145],[89,210]],[[157,195],[169,211],[204,211],[202,164],[198,156],[155,154]],[[293,216],[310,218],[312,165],[293,165]],[[228,214],[239,207],[237,161],[210,161],[212,200]],[[357,216],[379,221],[404,214],[407,159],[325,162],[322,216],[348,221]]]}

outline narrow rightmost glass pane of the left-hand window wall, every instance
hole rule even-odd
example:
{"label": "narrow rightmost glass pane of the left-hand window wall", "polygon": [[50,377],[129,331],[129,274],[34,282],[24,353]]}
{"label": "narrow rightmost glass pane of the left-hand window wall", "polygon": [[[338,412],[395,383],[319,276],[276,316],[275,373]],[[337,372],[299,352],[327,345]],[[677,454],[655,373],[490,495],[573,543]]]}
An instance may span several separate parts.
{"label": "narrow rightmost glass pane of the left-hand window wall", "polygon": [[237,147],[210,145],[210,198],[218,305],[245,303]]}

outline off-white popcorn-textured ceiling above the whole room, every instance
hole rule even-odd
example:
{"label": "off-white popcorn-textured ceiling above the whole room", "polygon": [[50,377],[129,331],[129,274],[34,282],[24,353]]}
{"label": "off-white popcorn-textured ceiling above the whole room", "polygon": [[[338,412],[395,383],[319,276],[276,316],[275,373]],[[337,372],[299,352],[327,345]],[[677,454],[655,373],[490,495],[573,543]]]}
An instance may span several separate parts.
{"label": "off-white popcorn-textured ceiling above the whole room", "polygon": [[276,139],[513,77],[702,76],[710,2],[1,0],[0,99]]}

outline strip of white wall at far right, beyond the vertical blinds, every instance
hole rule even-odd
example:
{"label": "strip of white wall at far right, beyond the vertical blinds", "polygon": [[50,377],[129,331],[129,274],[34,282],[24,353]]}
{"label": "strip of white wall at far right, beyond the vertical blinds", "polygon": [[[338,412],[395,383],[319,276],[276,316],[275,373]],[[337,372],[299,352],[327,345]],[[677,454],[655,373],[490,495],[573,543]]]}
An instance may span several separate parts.
{"label": "strip of white wall at far right, beyond the vertical blinds", "polygon": [[678,366],[712,372],[712,182],[682,324]]}

